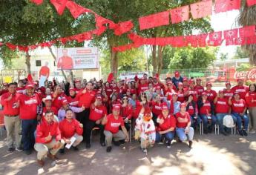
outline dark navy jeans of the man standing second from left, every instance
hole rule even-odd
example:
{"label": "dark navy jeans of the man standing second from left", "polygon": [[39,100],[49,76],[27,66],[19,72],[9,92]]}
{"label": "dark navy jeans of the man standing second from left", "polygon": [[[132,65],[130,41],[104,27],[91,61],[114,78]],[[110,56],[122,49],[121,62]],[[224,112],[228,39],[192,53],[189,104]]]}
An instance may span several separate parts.
{"label": "dark navy jeans of the man standing second from left", "polygon": [[22,143],[24,151],[30,150],[35,144],[34,132],[36,131],[36,119],[22,119]]}

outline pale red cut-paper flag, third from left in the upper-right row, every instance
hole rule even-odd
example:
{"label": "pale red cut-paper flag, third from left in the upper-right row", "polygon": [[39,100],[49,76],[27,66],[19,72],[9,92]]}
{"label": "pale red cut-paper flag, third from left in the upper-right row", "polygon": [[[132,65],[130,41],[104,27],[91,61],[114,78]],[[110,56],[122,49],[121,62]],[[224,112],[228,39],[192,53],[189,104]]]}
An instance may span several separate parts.
{"label": "pale red cut-paper flag, third from left in the upper-right row", "polygon": [[193,19],[200,19],[211,15],[212,1],[200,1],[190,5]]}

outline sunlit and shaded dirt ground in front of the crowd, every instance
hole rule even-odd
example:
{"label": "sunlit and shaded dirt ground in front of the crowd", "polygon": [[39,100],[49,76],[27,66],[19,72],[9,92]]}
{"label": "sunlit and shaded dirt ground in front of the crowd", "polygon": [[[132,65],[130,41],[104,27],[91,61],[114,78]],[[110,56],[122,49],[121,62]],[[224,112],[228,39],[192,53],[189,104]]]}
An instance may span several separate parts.
{"label": "sunlit and shaded dirt ground in front of the crowd", "polygon": [[136,141],[119,147],[111,153],[99,145],[99,136],[93,137],[91,149],[85,143],[79,151],[65,151],[53,162],[45,159],[45,166],[36,164],[36,151],[30,156],[24,152],[7,153],[5,132],[0,139],[0,174],[256,174],[256,134],[247,137],[195,134],[192,149],[187,143],[173,142],[171,148],[155,145],[148,158]]}

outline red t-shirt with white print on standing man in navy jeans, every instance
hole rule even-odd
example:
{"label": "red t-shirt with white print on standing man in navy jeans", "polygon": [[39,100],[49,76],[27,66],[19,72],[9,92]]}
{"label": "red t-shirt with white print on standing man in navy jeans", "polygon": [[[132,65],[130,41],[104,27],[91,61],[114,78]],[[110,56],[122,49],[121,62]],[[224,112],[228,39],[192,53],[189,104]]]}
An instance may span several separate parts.
{"label": "red t-shirt with white print on standing man in navy jeans", "polygon": [[19,118],[21,119],[36,119],[37,107],[41,104],[41,100],[37,94],[27,96],[19,95]]}

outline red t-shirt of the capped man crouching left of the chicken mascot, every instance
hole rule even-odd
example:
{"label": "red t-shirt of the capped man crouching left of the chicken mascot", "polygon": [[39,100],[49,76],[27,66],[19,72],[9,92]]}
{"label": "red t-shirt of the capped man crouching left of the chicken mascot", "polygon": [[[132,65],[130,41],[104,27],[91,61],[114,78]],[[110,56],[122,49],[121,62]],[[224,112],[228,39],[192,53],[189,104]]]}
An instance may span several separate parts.
{"label": "red t-shirt of the capped man crouching left of the chicken mascot", "polygon": [[117,119],[114,118],[113,114],[107,116],[108,122],[105,125],[105,131],[111,131],[111,133],[118,133],[119,127],[124,126],[124,121],[122,116],[118,116]]}

